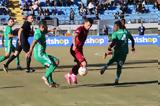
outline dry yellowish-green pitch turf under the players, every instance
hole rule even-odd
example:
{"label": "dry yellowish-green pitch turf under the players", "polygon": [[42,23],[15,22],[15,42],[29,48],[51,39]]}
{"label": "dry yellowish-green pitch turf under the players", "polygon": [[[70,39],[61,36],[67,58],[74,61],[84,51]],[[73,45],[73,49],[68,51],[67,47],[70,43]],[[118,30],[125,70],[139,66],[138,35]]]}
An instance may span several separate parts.
{"label": "dry yellowish-green pitch turf under the players", "polygon": [[[60,67],[53,75],[59,88],[45,86],[41,80],[45,69],[34,59],[32,66],[36,72],[29,74],[15,70],[15,62],[10,65],[9,73],[5,73],[1,63],[0,106],[159,106],[158,47],[137,46],[136,52],[128,55],[118,86],[113,85],[115,65],[104,75],[99,74],[98,69],[110,58],[102,58],[105,50],[105,47],[84,48],[89,73],[78,76],[78,85],[68,86],[64,74],[74,64],[69,48],[48,48],[49,54],[60,59]],[[25,66],[24,54],[21,64]]]}

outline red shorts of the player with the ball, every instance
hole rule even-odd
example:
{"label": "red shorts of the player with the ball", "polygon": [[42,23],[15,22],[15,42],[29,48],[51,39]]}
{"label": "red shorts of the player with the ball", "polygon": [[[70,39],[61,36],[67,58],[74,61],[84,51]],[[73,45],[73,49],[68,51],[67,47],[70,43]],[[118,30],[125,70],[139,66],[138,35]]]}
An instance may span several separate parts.
{"label": "red shorts of the player with the ball", "polygon": [[70,48],[70,53],[74,57],[75,62],[81,64],[83,61],[86,61],[86,59],[83,56],[83,49],[76,49],[75,51],[72,50],[72,47]]}

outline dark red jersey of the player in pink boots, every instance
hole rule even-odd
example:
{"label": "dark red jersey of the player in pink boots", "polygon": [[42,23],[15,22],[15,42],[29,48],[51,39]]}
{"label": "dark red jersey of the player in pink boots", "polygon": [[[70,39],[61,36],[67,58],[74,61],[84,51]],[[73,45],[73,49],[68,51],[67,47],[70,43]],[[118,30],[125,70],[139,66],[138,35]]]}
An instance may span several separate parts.
{"label": "dark red jersey of the player in pink boots", "polygon": [[78,34],[75,38],[75,45],[77,48],[81,49],[87,39],[88,30],[86,30],[84,26],[80,26],[75,30],[75,33]]}

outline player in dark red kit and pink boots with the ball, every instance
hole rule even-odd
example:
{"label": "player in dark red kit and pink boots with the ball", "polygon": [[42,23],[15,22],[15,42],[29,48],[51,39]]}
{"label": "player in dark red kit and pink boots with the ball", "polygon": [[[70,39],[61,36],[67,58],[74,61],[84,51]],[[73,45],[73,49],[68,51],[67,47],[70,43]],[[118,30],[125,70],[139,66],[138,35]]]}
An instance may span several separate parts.
{"label": "player in dark red kit and pink boots with the ball", "polygon": [[74,61],[77,64],[73,66],[72,70],[65,75],[65,79],[69,85],[71,85],[72,83],[77,84],[78,69],[80,67],[86,68],[87,66],[87,61],[83,56],[83,45],[87,39],[87,35],[92,24],[93,19],[86,18],[83,25],[75,30],[70,53],[74,57]]}

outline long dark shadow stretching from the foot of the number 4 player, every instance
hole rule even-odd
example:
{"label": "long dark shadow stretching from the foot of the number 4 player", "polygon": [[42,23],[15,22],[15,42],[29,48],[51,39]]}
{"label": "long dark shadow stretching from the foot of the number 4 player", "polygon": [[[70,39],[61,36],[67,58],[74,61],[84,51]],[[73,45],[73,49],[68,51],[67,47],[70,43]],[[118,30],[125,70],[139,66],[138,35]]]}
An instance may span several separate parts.
{"label": "long dark shadow stretching from the foot of the number 4 player", "polygon": [[83,85],[73,85],[73,86],[61,86],[61,89],[71,89],[79,87],[133,87],[137,85],[148,85],[148,84],[157,84],[158,80],[153,81],[139,81],[139,82],[123,82],[115,85],[114,83],[100,83],[100,84],[83,84]]}

